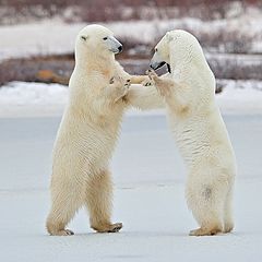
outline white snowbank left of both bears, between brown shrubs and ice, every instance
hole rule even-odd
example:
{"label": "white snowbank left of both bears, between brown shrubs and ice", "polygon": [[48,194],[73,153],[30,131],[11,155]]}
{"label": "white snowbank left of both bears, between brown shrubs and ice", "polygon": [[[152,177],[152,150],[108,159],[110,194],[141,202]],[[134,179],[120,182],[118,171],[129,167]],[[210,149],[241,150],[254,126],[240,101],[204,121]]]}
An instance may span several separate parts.
{"label": "white snowbank left of both bears, between brown shrubs and ice", "polygon": [[60,84],[11,82],[0,88],[0,117],[61,115],[67,99]]}

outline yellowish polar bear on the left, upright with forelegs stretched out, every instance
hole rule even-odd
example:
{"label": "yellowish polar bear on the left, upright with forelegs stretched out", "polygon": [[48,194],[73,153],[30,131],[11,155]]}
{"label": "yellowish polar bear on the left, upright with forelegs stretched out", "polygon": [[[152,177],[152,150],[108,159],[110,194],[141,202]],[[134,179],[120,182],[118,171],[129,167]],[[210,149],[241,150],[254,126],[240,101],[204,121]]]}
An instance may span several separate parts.
{"label": "yellowish polar bear on the left, upright with forelegs stretched out", "polygon": [[148,80],[129,75],[115,60],[122,45],[100,25],[83,28],[75,41],[75,68],[69,82],[69,103],[53,146],[50,235],[69,236],[66,226],[85,205],[91,227],[118,231],[111,223],[112,182],[109,160],[119,135],[124,109],[164,106],[155,87],[131,85]]}

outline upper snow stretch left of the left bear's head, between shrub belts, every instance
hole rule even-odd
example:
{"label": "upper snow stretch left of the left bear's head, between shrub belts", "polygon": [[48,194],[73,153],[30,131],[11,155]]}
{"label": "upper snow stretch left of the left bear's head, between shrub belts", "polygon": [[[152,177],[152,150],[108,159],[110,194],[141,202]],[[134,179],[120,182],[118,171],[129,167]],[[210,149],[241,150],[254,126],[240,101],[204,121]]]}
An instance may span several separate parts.
{"label": "upper snow stretch left of the left bear's head, between shrub belts", "polygon": [[53,21],[0,26],[0,60],[72,52],[76,34],[84,26]]}

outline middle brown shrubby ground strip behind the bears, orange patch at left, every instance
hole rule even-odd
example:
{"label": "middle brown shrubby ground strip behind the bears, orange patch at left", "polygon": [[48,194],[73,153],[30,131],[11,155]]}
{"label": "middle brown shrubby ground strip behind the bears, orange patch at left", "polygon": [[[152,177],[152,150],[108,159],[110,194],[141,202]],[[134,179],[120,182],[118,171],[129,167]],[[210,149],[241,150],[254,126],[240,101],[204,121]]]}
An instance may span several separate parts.
{"label": "middle brown shrubby ground strip behind the bears, orange patch at left", "polygon": [[[144,74],[148,69],[151,56],[118,55],[117,59],[131,74]],[[262,80],[262,56],[210,53],[207,61],[217,79]],[[60,83],[68,85],[74,68],[74,56],[59,55],[10,59],[0,63],[0,85],[12,81]],[[163,69],[162,72],[165,72]],[[217,86],[217,92],[223,86]]]}

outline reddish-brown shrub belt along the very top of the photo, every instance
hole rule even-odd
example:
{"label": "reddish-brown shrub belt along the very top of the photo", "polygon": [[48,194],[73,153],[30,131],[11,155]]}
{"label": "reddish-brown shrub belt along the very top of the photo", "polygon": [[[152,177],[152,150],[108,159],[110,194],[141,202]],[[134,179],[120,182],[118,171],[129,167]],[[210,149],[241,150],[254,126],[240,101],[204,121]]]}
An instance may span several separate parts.
{"label": "reddish-brown shrub belt along the very top of the photo", "polygon": [[[224,19],[228,8],[262,8],[262,0],[0,0],[0,23],[60,15],[67,22],[150,20],[192,16],[202,20]],[[70,12],[71,8],[71,12]],[[67,12],[66,12],[67,11]]]}

